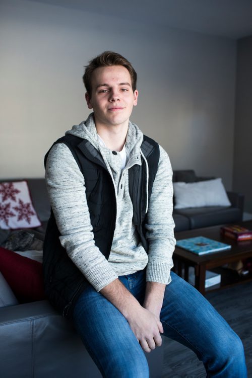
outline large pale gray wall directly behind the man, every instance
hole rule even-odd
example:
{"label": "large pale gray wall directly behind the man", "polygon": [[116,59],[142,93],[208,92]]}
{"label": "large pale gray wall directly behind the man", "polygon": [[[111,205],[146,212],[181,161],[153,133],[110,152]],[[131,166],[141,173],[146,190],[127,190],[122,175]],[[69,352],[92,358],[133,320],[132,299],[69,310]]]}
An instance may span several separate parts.
{"label": "large pale gray wall directly behind the man", "polygon": [[0,178],[43,176],[46,150],[89,113],[83,65],[111,49],[139,75],[132,120],[173,168],[222,177],[231,188],[234,40],[25,0],[1,1],[0,36]]}

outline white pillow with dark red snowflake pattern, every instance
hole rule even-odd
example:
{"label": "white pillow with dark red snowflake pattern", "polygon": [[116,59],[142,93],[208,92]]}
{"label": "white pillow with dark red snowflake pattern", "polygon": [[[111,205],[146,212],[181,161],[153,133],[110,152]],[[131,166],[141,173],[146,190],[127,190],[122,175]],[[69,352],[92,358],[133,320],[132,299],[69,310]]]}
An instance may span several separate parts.
{"label": "white pillow with dark red snowflake pattern", "polygon": [[0,183],[0,229],[28,229],[40,225],[27,182]]}

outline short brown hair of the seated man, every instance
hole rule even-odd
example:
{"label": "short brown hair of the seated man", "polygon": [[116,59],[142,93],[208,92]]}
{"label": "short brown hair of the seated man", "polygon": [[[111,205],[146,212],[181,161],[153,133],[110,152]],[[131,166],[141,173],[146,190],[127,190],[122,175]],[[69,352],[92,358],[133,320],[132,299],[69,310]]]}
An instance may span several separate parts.
{"label": "short brown hair of the seated man", "polygon": [[123,65],[125,68],[127,68],[131,75],[132,89],[134,92],[137,89],[137,72],[129,60],[116,52],[104,51],[100,55],[90,60],[89,64],[85,66],[83,82],[90,97],[92,95],[91,79],[93,71],[98,67],[108,67],[110,65]]}

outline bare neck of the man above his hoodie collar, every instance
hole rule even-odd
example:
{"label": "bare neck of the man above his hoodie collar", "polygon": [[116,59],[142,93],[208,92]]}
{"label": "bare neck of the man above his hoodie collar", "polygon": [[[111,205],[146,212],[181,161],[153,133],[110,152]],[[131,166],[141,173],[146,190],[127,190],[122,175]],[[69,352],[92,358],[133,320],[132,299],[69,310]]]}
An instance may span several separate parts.
{"label": "bare neck of the man above his hoodie collar", "polygon": [[107,148],[121,151],[126,140],[128,125],[103,126],[96,125],[97,134],[102,138]]}

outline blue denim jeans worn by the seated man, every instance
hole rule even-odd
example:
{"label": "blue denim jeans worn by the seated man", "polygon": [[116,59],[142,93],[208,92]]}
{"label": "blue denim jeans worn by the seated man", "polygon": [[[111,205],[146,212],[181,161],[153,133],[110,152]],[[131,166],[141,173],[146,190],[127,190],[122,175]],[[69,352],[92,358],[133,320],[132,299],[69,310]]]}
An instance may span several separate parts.
{"label": "blue denim jeans worn by the seated man", "polygon": [[[164,335],[192,349],[208,377],[246,378],[239,337],[192,285],[171,272],[160,314]],[[142,304],[145,271],[119,277]],[[106,378],[148,378],[145,354],[123,315],[95,289],[86,289],[74,309],[75,327]]]}

